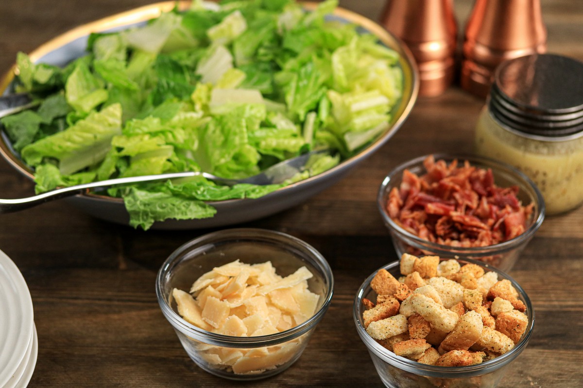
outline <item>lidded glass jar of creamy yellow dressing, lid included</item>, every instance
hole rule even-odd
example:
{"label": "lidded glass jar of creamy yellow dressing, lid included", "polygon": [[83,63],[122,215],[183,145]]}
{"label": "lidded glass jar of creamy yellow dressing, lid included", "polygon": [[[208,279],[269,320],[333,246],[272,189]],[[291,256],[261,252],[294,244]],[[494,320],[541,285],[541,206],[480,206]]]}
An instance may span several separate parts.
{"label": "lidded glass jar of creamy yellow dressing, lid included", "polygon": [[522,170],[549,215],[583,202],[583,63],[553,54],[497,67],[475,151]]}

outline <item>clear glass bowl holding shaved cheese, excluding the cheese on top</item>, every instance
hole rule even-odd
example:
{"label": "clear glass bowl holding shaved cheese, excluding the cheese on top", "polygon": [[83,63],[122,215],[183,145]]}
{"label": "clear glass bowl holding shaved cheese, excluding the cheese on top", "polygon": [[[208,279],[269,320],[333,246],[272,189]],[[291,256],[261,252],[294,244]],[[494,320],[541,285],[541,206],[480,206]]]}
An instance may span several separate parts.
{"label": "clear glass bowl holding shaved cheese, excluding the cheese on top", "polygon": [[[314,275],[308,289],[318,294],[314,315],[300,325],[280,333],[255,337],[234,337],[200,329],[182,319],[172,297],[174,288],[189,290],[201,275],[217,266],[239,259],[245,264],[271,261],[280,276],[305,266]],[[175,250],[161,266],[156,278],[160,308],[190,358],[205,371],[232,380],[256,380],[276,375],[300,357],[311,334],[332,300],[332,270],[313,247],[280,232],[264,229],[227,229],[205,234]],[[240,351],[240,352],[239,352]],[[232,365],[253,351],[258,369],[235,373]],[[216,355],[223,355],[217,362]],[[224,355],[232,355],[224,357]],[[231,365],[227,365],[231,363]]]}

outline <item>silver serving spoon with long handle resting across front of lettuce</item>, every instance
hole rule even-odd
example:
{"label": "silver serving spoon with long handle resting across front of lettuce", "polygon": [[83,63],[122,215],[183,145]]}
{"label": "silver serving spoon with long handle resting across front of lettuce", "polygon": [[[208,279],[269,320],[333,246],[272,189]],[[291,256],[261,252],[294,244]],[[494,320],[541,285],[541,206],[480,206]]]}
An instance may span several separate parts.
{"label": "silver serving spoon with long handle resting across front of lettuce", "polygon": [[303,171],[305,164],[308,162],[308,159],[310,159],[310,156],[314,154],[320,154],[323,152],[325,151],[311,151],[308,152],[307,154],[287,159],[283,162],[279,162],[269,167],[268,169],[265,169],[263,172],[257,175],[250,176],[244,179],[226,179],[206,172],[177,172],[160,175],[143,175],[132,176],[127,178],[107,179],[86,184],[78,184],[76,186],[57,188],[56,190],[47,191],[46,193],[34,195],[33,197],[17,198],[14,200],[0,199],[0,214],[17,212],[20,210],[34,207],[36,205],[44,204],[44,202],[69,197],[75,194],[86,193],[89,189],[97,191],[104,190],[105,188],[119,184],[140,183],[164,179],[203,176],[206,179],[215,181],[216,183],[224,184],[226,186],[233,186],[238,183],[258,184],[261,186],[264,186],[266,184],[278,184],[282,183],[286,179],[293,177],[298,172]]}

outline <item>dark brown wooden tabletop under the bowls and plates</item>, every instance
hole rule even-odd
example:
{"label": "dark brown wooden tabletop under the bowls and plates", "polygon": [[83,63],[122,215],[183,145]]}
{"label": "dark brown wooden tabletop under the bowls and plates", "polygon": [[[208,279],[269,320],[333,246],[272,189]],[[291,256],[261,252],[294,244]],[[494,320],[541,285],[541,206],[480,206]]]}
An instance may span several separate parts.
{"label": "dark brown wooden tabletop under the bowls and plates", "polygon": [[[0,0],[0,72],[74,26],[147,0]],[[378,19],[384,1],[340,1]],[[456,1],[461,30],[472,2]],[[583,2],[543,0],[549,52],[583,60]],[[374,269],[396,259],[375,204],[384,175],[431,152],[471,149],[483,101],[449,88],[420,98],[401,130],[335,186],[296,208],[241,226],[280,230],[312,244],[330,262],[332,305],[307,350],[258,387],[381,387],[352,320],[354,293]],[[0,161],[0,197],[31,195],[33,184]],[[532,339],[500,387],[583,385],[583,208],[548,217],[511,275],[536,311]],[[210,230],[134,230],[91,218],[64,202],[0,216],[0,249],[30,288],[38,330],[31,387],[241,386],[203,372],[161,314],[154,277],[179,245]],[[6,314],[0,311],[0,314]],[[1,346],[1,344],[0,344]]]}

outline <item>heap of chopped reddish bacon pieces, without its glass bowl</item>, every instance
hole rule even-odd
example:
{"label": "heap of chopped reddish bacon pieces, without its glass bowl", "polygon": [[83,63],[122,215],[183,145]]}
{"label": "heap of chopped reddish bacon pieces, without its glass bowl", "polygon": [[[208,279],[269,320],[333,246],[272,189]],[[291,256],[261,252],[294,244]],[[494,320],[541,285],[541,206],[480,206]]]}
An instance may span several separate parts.
{"label": "heap of chopped reddish bacon pieces, without its glass bowl", "polygon": [[423,239],[455,247],[485,247],[519,236],[533,204],[522,206],[518,187],[498,187],[491,169],[468,161],[449,165],[428,156],[426,173],[405,170],[387,200],[389,216]]}

